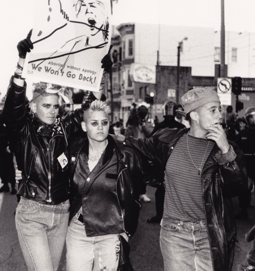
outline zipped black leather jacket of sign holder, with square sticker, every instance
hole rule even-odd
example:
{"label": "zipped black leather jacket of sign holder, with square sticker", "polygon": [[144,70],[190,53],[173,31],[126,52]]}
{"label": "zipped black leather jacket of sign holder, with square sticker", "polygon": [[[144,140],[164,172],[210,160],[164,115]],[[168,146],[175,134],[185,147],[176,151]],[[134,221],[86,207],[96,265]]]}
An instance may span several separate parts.
{"label": "zipped black leather jacket of sign holder, with square sticker", "polygon": [[[71,113],[64,121],[54,124],[51,132],[29,115],[25,106],[26,82],[24,87],[10,80],[3,115],[5,124],[15,141],[15,156],[22,180],[17,193],[20,196],[44,203],[59,204],[69,198],[69,163],[62,169],[57,160],[67,154],[67,140],[81,129],[78,111]],[[48,137],[48,138],[47,138]]]}

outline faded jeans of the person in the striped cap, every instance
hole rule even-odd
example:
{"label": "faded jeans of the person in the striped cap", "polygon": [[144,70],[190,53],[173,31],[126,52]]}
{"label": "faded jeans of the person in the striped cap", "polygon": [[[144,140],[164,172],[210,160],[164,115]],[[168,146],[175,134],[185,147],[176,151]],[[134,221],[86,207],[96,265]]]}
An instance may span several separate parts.
{"label": "faded jeans of the person in the striped cap", "polygon": [[161,226],[164,271],[213,271],[206,226],[174,220]]}

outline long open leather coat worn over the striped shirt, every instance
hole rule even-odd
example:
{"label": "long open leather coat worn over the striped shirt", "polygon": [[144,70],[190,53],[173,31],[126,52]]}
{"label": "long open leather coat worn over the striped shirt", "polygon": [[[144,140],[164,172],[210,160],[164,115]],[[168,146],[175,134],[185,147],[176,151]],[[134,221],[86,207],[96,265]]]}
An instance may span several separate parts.
{"label": "long open leather coat worn over the striped shirt", "polygon": [[[126,137],[126,145],[140,150],[164,181],[167,160],[178,139],[189,129],[161,129],[149,139]],[[236,226],[231,197],[247,189],[247,170],[244,154],[233,142],[236,158],[220,164],[221,151],[217,144],[209,154],[201,174],[204,211],[214,271],[230,271],[234,257]]]}

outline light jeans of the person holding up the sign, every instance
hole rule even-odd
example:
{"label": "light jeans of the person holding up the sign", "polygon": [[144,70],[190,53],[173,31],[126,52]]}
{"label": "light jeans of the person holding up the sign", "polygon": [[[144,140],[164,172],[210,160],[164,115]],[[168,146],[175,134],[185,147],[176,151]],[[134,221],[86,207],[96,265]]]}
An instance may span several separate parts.
{"label": "light jeans of the person holding up the sign", "polygon": [[[56,208],[68,207],[69,200]],[[65,243],[69,212],[49,213],[19,203],[16,229],[29,271],[57,271]]]}

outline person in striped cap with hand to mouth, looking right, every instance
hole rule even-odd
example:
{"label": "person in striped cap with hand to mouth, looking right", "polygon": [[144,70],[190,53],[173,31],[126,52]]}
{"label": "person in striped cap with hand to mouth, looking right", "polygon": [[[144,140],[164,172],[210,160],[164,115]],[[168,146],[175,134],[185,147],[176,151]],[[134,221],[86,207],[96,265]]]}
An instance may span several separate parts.
{"label": "person in striped cap with hand to mouth, looking right", "polygon": [[247,189],[244,154],[226,138],[212,89],[181,98],[190,129],[161,129],[149,139],[126,137],[153,161],[164,183],[160,245],[164,270],[230,271],[236,228],[231,197]]}

